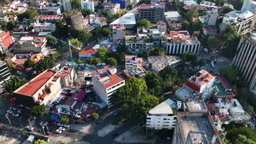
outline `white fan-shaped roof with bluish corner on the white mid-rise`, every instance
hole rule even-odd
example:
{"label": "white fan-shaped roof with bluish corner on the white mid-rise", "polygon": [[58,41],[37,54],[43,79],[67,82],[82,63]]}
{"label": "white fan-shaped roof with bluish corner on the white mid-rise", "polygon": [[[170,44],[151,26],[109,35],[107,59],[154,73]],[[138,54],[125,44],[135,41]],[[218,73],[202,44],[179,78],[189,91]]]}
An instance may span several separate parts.
{"label": "white fan-shaped roof with bluish corner on the white mid-rise", "polygon": [[177,108],[176,104],[171,99],[166,99],[159,105],[155,106],[153,109],[149,110],[148,113],[151,115],[160,114],[173,114],[172,109]]}

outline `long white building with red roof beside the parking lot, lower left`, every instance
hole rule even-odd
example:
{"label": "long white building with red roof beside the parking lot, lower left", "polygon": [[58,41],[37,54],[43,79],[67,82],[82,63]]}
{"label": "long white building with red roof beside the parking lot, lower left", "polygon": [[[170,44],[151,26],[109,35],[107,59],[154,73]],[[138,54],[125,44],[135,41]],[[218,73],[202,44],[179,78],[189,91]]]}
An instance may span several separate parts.
{"label": "long white building with red roof beside the parking lot, lower left", "polygon": [[[57,72],[45,70],[43,73],[28,81],[25,85],[16,89],[11,95],[10,101],[16,105],[47,105],[61,91],[61,88],[72,83],[73,69],[66,68]],[[67,79],[66,77],[69,77]],[[65,83],[65,85],[63,85]]]}

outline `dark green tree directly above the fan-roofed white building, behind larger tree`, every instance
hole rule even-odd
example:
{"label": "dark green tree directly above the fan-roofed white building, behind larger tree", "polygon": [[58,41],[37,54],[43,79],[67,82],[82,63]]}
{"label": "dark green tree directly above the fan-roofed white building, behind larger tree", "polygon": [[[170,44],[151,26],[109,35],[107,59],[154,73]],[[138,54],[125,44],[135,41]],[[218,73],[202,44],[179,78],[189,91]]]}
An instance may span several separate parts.
{"label": "dark green tree directly above the fan-roofed white building, behind larger tree", "polygon": [[165,88],[165,83],[160,75],[153,72],[148,72],[145,77],[145,81],[147,83],[148,91],[150,94],[157,96],[162,95]]}

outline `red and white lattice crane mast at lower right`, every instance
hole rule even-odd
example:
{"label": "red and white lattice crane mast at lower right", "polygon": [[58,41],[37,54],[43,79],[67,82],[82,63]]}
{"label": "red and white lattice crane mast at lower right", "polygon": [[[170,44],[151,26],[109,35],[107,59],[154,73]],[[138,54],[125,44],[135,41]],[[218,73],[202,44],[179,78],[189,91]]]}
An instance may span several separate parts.
{"label": "red and white lattice crane mast at lower right", "polygon": [[216,119],[214,121],[215,131],[211,144],[214,144],[216,142],[219,131],[222,130],[222,124],[228,124],[228,121],[225,121],[224,118],[228,115],[229,106],[231,104],[231,101],[233,100],[233,97],[235,97],[234,89],[229,93],[229,96],[226,98],[227,101],[224,110],[220,113],[219,116],[216,115]]}

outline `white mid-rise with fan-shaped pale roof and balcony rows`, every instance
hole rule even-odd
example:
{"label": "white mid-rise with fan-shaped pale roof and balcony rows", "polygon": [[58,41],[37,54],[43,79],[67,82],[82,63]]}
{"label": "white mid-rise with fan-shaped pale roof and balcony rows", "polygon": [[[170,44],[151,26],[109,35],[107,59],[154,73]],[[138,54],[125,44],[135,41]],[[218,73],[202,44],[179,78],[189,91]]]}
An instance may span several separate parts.
{"label": "white mid-rise with fan-shaped pale roof and balcony rows", "polygon": [[167,99],[148,111],[146,127],[150,129],[174,129],[178,106]]}

